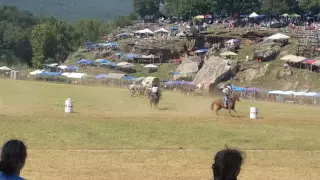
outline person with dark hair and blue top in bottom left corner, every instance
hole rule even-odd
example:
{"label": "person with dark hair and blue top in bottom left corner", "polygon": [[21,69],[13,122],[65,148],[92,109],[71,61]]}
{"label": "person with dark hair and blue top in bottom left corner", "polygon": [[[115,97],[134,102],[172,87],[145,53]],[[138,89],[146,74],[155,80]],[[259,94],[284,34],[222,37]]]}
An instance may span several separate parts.
{"label": "person with dark hair and blue top in bottom left corner", "polygon": [[0,157],[0,180],[25,180],[20,176],[27,158],[27,148],[20,140],[5,143]]}

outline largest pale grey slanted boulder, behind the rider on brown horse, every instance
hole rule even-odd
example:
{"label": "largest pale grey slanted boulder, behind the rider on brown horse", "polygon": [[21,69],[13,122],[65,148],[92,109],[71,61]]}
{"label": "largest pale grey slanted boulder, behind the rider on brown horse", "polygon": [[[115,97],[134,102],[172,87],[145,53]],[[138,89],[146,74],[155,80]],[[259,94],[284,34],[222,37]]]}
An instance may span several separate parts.
{"label": "largest pale grey slanted boulder, behind the rider on brown horse", "polygon": [[205,61],[203,67],[194,78],[193,83],[199,84],[205,82],[216,85],[223,81],[230,80],[236,75],[238,70],[238,61],[211,56]]}

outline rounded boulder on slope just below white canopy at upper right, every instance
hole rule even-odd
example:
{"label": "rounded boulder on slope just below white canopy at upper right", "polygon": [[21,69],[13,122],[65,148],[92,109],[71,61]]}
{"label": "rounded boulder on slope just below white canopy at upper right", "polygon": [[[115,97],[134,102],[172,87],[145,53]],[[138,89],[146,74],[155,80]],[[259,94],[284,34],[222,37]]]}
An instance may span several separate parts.
{"label": "rounded boulder on slope just below white canopy at upper right", "polygon": [[275,43],[260,43],[253,49],[254,59],[271,61],[277,58],[280,53],[280,46]]}

